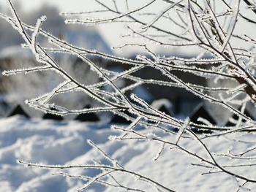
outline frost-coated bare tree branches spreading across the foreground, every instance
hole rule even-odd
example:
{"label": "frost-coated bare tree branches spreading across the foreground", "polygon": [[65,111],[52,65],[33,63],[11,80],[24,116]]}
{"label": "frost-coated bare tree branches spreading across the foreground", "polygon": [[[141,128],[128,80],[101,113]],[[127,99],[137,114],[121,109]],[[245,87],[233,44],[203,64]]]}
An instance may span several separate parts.
{"label": "frost-coated bare tree branches spreading across the foreground", "polygon": [[[145,55],[138,55],[135,59],[121,58],[115,55],[100,53],[97,50],[86,50],[83,47],[70,45],[62,39],[53,37],[47,31],[43,31],[41,26],[46,20],[45,16],[39,18],[36,26],[29,26],[23,23],[18,17],[15,8],[12,7],[9,0],[12,16],[1,14],[10,24],[19,31],[25,40],[23,47],[29,48],[34,53],[35,58],[41,64],[33,68],[15,69],[4,72],[5,75],[38,72],[45,70],[53,70],[63,77],[63,82],[49,93],[38,96],[35,99],[29,99],[26,104],[35,107],[44,112],[51,112],[56,115],[68,115],[88,112],[113,112],[127,118],[131,123],[124,126],[113,126],[121,131],[120,136],[113,137],[115,140],[140,139],[150,140],[162,144],[162,150],[182,150],[198,160],[198,164],[192,166],[203,166],[208,174],[222,173],[235,177],[240,186],[248,185],[252,187],[256,183],[256,178],[240,174],[237,167],[255,166],[255,142],[252,141],[250,147],[246,147],[246,142],[241,135],[250,135],[255,132],[255,120],[246,115],[245,109],[249,104],[256,103],[256,80],[255,80],[255,37],[253,30],[241,30],[242,28],[253,28],[255,26],[255,4],[250,1],[237,0],[229,3],[225,0],[219,1],[169,1],[169,0],[151,0],[140,2],[139,7],[135,7],[132,1],[100,1],[94,0],[101,6],[100,9],[86,10],[85,12],[63,13],[63,15],[83,15],[83,19],[67,20],[67,23],[78,23],[87,26],[105,25],[114,23],[127,23],[127,31],[129,37],[133,37],[130,42],[116,47],[117,49],[125,49],[126,47],[140,47]],[[162,4],[157,9],[156,4]],[[154,7],[154,9],[151,9]],[[99,15],[99,17],[97,17]],[[162,23],[165,23],[162,25]],[[240,31],[239,31],[240,29]],[[42,47],[37,37],[42,36],[52,43],[53,47]],[[140,37],[140,42],[134,38]],[[151,46],[151,45],[154,46]],[[176,47],[178,52],[189,50],[198,50],[193,57],[176,55],[157,55],[154,47],[173,48]],[[83,60],[85,65],[95,72],[100,78],[99,82],[90,85],[84,85],[68,74],[59,66],[56,61],[50,57],[49,53],[64,53],[76,55]],[[120,66],[125,66],[123,72],[115,72],[110,69],[102,68],[94,64],[91,56],[115,61]],[[152,75],[150,78],[137,77],[135,72],[143,70],[146,67],[161,72],[162,76],[167,80],[159,80]],[[182,80],[173,72],[181,71],[202,77],[208,84],[200,85]],[[118,80],[128,80],[128,85],[120,87],[117,85]],[[223,83],[220,83],[223,82]],[[214,106],[218,106],[223,110],[228,110],[238,119],[230,119],[233,126],[212,125],[207,119],[200,118],[200,123],[194,123],[186,118],[180,120],[176,117],[160,112],[151,107],[146,101],[140,99],[135,94],[127,95],[129,91],[139,85],[154,84],[165,87],[182,88],[193,93],[195,96],[207,101]],[[105,89],[105,86],[111,86],[112,89]],[[55,96],[69,93],[73,91],[82,91],[85,95],[90,96],[98,102],[99,107],[83,110],[72,110],[50,101]],[[168,135],[169,139],[162,139],[154,134],[143,134],[136,131],[136,126],[145,128],[154,127],[160,129]],[[178,131],[173,131],[176,128]],[[208,131],[208,134],[196,134],[194,130]],[[235,139],[244,149],[241,153],[235,153],[228,150],[226,153],[214,153],[212,146],[208,146],[208,139],[213,137],[219,139]],[[193,150],[183,147],[181,140],[187,139],[191,142],[197,142],[201,150],[204,152],[196,153]],[[125,172],[127,174],[140,177],[148,183],[156,186],[159,191],[173,191],[161,183],[151,180],[149,177],[127,170],[124,166],[116,163],[116,161],[105,154],[92,142],[89,142],[102,155],[104,155],[112,163],[111,166],[105,166],[99,162],[95,164],[86,164],[75,166],[80,168],[101,169],[102,172],[96,177],[83,177],[87,180],[84,188],[86,189],[93,183],[102,183],[113,187],[125,188],[127,190],[142,191],[140,189],[129,188],[122,185],[116,180],[116,172]],[[229,158],[230,164],[225,165],[219,163],[219,158]],[[74,166],[47,166],[30,164],[19,161],[21,164],[29,166],[46,167],[49,169],[72,169]],[[72,177],[72,175],[67,174]],[[74,176],[78,177],[78,176]],[[105,180],[105,177],[111,177],[112,182]],[[239,189],[238,189],[239,191]]]}

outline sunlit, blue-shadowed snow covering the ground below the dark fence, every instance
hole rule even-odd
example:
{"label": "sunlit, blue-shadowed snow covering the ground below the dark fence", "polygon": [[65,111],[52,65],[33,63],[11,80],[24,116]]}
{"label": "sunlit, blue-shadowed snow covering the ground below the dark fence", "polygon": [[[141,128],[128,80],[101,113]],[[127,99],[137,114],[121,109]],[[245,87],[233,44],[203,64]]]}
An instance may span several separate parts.
{"label": "sunlit, blue-shadowed snow covering the ground below the dark fence", "polygon": [[[175,139],[157,130],[141,130],[153,132],[163,139]],[[110,135],[118,135],[118,131],[110,129],[110,124],[82,123],[75,120],[54,121],[37,118],[27,119],[15,115],[0,119],[0,192],[51,192],[77,191],[83,187],[84,181],[72,177],[62,177],[53,173],[68,172],[93,177],[99,173],[95,169],[40,169],[17,164],[17,159],[38,164],[89,164],[94,159],[108,164],[99,151],[92,148],[86,140],[91,139],[105,153],[115,158],[119,164],[129,170],[151,177],[173,191],[237,191],[238,184],[227,174],[201,174],[208,169],[192,166],[200,163],[195,158],[177,150],[165,149],[157,161],[159,145],[152,141],[113,141]],[[253,138],[248,138],[253,139]],[[184,147],[200,153],[201,146],[189,139],[181,139]],[[226,152],[227,148],[236,147],[236,142],[219,137],[207,141],[210,150],[217,153]],[[213,145],[211,145],[211,142]],[[245,147],[249,147],[249,144]],[[240,150],[243,150],[242,148]],[[219,158],[223,164],[229,164],[228,158]],[[256,177],[256,169],[243,167],[240,174]],[[136,177],[124,173],[113,174],[122,184],[145,191],[154,191],[152,185],[143,183]],[[256,191],[256,186],[250,186]],[[110,188],[94,184],[88,191],[124,191],[124,188]],[[243,191],[243,190],[240,190]]]}

